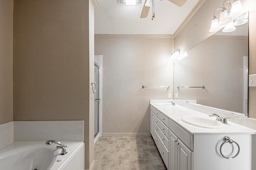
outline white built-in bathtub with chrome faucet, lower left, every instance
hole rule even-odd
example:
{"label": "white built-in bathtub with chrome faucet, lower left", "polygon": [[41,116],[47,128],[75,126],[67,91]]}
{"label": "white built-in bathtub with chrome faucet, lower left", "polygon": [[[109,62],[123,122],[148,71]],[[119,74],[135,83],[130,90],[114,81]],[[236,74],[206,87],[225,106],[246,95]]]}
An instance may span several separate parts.
{"label": "white built-in bathtub with chrome faucet, lower left", "polygon": [[84,142],[62,142],[65,155],[56,144],[13,142],[0,148],[1,170],[84,170]]}

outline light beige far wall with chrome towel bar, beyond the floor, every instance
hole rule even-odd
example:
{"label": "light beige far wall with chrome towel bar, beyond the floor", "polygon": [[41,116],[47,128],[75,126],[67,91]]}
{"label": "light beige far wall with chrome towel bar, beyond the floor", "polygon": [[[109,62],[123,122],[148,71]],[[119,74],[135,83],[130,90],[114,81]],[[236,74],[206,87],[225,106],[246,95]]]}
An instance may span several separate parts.
{"label": "light beige far wall with chrome towel bar, beyond the floor", "polygon": [[173,90],[173,44],[172,38],[95,38],[95,54],[103,55],[103,134],[150,132],[149,100],[168,99]]}

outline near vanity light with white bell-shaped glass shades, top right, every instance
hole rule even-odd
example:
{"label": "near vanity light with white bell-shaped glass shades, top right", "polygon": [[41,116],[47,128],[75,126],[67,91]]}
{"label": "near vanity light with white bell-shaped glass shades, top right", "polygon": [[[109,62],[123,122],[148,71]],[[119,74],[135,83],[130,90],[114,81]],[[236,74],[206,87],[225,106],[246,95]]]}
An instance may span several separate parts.
{"label": "near vanity light with white bell-shaped glass shades, top right", "polygon": [[[229,8],[225,8],[224,5],[227,2],[229,5]],[[220,21],[218,22],[218,18],[215,16],[215,12],[221,10],[220,12]],[[212,24],[209,32],[216,32],[221,26],[225,26],[225,28],[222,30],[223,32],[232,32],[236,30],[235,26],[240,26],[242,24],[245,24],[248,22],[248,19],[245,18],[245,15],[237,18],[238,16],[242,15],[244,13],[244,10],[242,8],[242,4],[240,0],[234,0],[234,2],[231,4],[230,1],[225,0],[223,2],[223,5],[221,8],[217,8],[212,17]],[[237,18],[235,22],[233,22],[234,18]]]}

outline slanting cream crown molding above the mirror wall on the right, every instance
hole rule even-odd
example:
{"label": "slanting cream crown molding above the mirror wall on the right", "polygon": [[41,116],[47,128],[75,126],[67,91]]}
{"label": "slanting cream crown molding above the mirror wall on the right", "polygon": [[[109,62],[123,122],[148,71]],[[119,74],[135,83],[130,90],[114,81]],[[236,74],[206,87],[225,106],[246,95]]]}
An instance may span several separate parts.
{"label": "slanting cream crown molding above the mirror wall on the right", "polygon": [[198,10],[202,7],[202,5],[206,2],[206,0],[199,0],[196,6],[192,9],[192,11],[188,14],[185,20],[180,24],[178,29],[174,32],[174,38],[179,34],[179,32],[188,24],[188,22],[192,19],[192,17],[198,12]]}

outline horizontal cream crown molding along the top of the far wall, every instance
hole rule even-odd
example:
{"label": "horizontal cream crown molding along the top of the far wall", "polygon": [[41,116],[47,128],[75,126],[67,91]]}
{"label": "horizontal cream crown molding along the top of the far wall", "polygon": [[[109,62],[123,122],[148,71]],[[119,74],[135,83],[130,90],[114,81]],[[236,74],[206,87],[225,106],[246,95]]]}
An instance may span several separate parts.
{"label": "horizontal cream crown molding along the top of the far wall", "polygon": [[150,34],[94,34],[94,38],[171,38],[173,35],[150,35]]}

